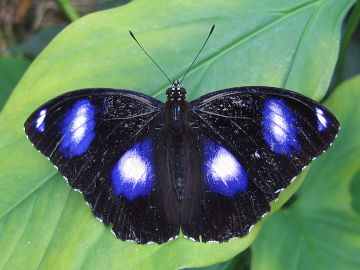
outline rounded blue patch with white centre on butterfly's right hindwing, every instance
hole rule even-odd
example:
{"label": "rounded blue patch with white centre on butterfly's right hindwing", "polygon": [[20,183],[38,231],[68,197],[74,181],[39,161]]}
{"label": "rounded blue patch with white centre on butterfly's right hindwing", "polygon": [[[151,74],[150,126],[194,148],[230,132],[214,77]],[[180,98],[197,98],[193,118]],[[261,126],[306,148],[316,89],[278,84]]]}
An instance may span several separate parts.
{"label": "rounded blue patch with white centre on butterfly's right hindwing", "polygon": [[203,138],[204,176],[210,191],[227,197],[245,192],[248,175],[240,162],[220,144]]}

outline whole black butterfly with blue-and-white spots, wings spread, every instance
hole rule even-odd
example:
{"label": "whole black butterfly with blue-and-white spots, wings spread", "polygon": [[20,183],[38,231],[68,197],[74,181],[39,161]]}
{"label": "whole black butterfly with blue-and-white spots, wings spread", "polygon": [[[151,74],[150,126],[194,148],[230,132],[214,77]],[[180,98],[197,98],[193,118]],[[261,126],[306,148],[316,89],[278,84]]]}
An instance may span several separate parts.
{"label": "whole black butterfly with blue-and-white spots, wings spread", "polygon": [[76,90],[24,124],[122,240],[245,236],[339,130],[323,105],[281,88],[235,87],[188,102],[177,81],[166,95],[163,103],[130,90]]}

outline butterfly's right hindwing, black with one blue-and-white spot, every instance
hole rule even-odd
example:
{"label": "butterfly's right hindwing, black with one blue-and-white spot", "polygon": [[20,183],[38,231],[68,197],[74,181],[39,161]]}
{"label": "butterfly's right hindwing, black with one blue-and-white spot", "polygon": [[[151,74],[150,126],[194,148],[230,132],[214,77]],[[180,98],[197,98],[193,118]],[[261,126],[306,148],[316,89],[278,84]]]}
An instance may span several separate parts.
{"label": "butterfly's right hindwing, black with one blue-and-white spot", "polygon": [[269,202],[234,155],[201,129],[190,139],[182,232],[203,242],[246,235],[270,211]]}

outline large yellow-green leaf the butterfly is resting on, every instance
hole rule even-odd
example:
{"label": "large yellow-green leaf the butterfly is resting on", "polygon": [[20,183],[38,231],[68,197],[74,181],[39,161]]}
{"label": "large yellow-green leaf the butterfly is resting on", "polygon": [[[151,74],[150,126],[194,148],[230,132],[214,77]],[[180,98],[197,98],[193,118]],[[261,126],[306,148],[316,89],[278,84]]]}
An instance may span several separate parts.
{"label": "large yellow-green leaf the butterfly is resting on", "polygon": [[342,20],[353,3],[137,0],[67,27],[34,61],[0,115],[0,268],[176,269],[224,261],[247,248],[262,222],[247,237],[220,245],[183,238],[163,245],[115,239],[31,147],[23,122],[50,98],[85,87],[121,87],[164,100],[168,82],[128,29],[171,78],[178,78],[217,24],[184,81],[190,99],[240,85],[282,86],[320,99],[334,69]]}

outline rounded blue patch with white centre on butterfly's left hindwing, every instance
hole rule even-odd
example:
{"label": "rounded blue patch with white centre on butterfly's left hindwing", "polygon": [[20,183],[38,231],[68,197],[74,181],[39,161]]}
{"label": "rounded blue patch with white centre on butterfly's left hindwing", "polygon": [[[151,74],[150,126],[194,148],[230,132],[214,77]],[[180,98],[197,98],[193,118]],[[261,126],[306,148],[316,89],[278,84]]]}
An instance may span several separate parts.
{"label": "rounded blue patch with white centre on butterfly's left hindwing", "polygon": [[154,178],[151,138],[136,143],[126,151],[111,171],[115,195],[124,195],[128,200],[148,195]]}

